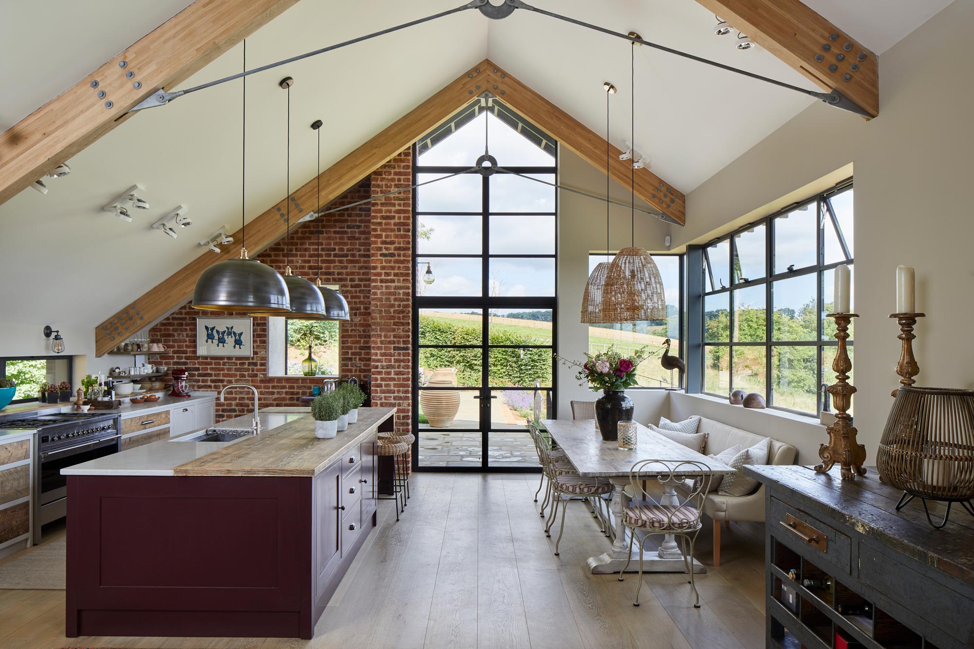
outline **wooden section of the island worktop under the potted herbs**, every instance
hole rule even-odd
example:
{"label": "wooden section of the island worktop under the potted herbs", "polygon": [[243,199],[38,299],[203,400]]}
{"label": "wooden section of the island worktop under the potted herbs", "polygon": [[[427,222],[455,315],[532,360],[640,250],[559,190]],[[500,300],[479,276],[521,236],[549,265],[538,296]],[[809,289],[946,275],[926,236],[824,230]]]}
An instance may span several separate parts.
{"label": "wooden section of the island worktop under the potted herbs", "polygon": [[315,437],[315,420],[309,414],[223,446],[173,472],[175,476],[314,477],[343,454],[357,452],[358,444],[393,414],[395,408],[358,408],[358,421],[332,439]]}

